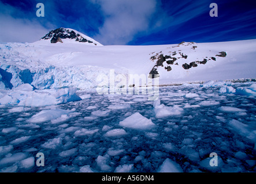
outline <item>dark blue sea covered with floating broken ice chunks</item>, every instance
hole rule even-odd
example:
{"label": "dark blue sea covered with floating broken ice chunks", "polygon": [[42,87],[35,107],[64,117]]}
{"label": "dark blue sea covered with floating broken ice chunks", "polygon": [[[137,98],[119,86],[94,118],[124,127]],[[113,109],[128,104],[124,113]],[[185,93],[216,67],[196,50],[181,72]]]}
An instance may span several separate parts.
{"label": "dark blue sea covered with floating broken ice chunks", "polygon": [[67,104],[1,106],[0,171],[255,172],[256,97],[235,93],[251,84],[160,87],[155,102],[80,92]]}

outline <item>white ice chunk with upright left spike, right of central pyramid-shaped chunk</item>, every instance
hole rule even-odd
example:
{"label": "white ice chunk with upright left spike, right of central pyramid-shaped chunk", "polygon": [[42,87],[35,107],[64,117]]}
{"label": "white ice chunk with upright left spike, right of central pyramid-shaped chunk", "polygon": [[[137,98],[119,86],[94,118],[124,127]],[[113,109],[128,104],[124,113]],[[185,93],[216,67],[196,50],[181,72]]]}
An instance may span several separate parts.
{"label": "white ice chunk with upright left spike, right of central pyramid-shaped chunk", "polygon": [[173,105],[173,107],[165,106],[164,104],[160,104],[160,100],[154,102],[154,112],[155,117],[161,118],[166,116],[180,115],[183,112],[183,109],[177,105]]}

